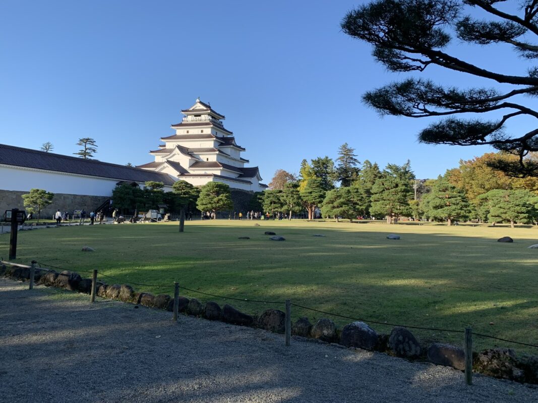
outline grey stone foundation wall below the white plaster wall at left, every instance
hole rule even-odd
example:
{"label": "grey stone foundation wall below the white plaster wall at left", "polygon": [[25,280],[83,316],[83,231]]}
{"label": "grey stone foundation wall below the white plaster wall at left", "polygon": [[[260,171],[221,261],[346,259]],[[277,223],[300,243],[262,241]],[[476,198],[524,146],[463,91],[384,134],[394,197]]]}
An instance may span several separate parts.
{"label": "grey stone foundation wall below the white plaster wall at left", "polygon": [[[21,192],[15,190],[0,190],[0,215],[4,214],[5,210],[11,210],[11,208],[19,208],[19,210],[25,210],[22,195],[28,192]],[[52,204],[49,204],[41,211],[41,218],[50,219],[54,216],[56,210],[60,210],[62,213],[69,212],[69,215],[73,214],[73,210],[83,208],[90,213],[95,210],[101,204],[103,204],[109,197],[106,196],[88,196],[88,195],[68,195],[67,193],[55,193],[52,199]],[[35,215],[37,218],[37,215]]]}

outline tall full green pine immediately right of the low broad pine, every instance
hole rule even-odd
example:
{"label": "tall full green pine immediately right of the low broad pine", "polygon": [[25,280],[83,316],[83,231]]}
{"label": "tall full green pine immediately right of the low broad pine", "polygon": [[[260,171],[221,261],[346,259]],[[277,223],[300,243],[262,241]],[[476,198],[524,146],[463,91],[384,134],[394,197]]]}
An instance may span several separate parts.
{"label": "tall full green pine immediately right of the low broad pine", "polygon": [[386,217],[387,224],[396,224],[402,215],[411,215],[409,200],[413,191],[409,176],[405,165],[388,164],[372,186],[370,214]]}

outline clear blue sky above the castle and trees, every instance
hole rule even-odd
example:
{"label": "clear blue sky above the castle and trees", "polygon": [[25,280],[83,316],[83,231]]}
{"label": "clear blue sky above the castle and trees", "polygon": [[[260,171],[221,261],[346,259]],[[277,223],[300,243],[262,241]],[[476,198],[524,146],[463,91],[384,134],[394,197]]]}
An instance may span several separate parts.
{"label": "clear blue sky above the castle and trees", "polygon": [[[50,141],[70,155],[91,137],[97,159],[142,164],[200,97],[225,114],[266,183],[279,168],[298,172],[304,158],[335,158],[344,142],[381,167],[410,159],[420,178],[489,150],[421,145],[427,120],[380,119],[362,104],[366,90],[407,75],[387,73],[369,45],[341,32],[358,3],[4,0],[0,142],[39,149]],[[457,41],[452,49],[498,71],[526,69],[508,49]],[[428,76],[478,82],[435,69]]]}

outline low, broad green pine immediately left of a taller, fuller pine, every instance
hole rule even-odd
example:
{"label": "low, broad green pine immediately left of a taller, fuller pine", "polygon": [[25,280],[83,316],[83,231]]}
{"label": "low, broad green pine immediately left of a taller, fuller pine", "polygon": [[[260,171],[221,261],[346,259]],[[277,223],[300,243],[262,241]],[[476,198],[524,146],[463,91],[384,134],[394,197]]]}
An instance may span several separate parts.
{"label": "low, broad green pine immediately left of a taller, fuller pine", "polygon": [[369,205],[369,199],[363,189],[358,186],[341,186],[327,192],[323,200],[321,213],[323,217],[346,218],[350,221],[363,216]]}

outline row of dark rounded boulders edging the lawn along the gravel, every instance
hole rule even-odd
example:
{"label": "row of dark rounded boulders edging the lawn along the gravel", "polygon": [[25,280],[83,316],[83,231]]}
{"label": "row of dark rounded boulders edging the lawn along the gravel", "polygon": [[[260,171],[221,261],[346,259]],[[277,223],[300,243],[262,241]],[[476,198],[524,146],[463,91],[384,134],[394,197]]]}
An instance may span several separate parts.
{"label": "row of dark rounded boulders edging the lawn along the gravel", "polygon": [[[15,280],[30,279],[30,269],[6,267],[0,265],[0,276]],[[89,294],[91,279],[82,278],[74,271],[36,268],[34,280],[36,284],[62,288]],[[102,298],[116,299],[125,303],[143,305],[172,312],[174,299],[168,294],[134,291],[128,284],[105,284],[97,282],[97,295]],[[179,312],[208,320],[219,320],[233,325],[265,329],[273,333],[284,333],[284,312],[269,309],[254,317],[240,312],[231,305],[221,308],[214,301],[202,304],[196,298],[179,298]],[[420,343],[407,328],[395,327],[390,335],[377,333],[364,322],[352,322],[337,329],[334,321],[319,319],[314,325],[308,318],[299,318],[292,323],[292,338],[320,344],[330,344],[338,348],[364,349],[384,352],[385,354],[409,360],[428,361],[436,365],[451,366],[457,370],[464,369],[465,353],[462,348],[450,344],[432,343],[425,346]],[[514,380],[520,383],[538,384],[538,356],[517,356],[512,349],[486,349],[473,353],[473,371],[494,378]]]}

